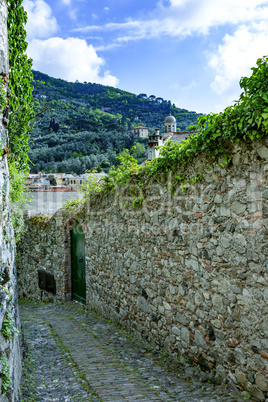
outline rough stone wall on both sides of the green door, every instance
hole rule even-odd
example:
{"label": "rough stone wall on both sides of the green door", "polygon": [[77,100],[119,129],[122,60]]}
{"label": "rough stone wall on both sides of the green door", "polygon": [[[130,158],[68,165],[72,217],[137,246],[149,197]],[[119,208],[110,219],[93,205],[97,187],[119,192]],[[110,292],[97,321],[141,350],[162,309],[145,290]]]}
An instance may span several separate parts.
{"label": "rough stone wall on both sides of the green door", "polygon": [[[263,401],[268,140],[237,146],[226,168],[200,157],[195,173],[203,174],[202,181],[184,192],[179,186],[173,195],[167,185],[148,188],[140,210],[124,207],[122,190],[80,217],[87,304],[156,349],[187,356]],[[18,253],[21,295],[40,298],[42,268],[56,277],[56,297],[71,297],[71,226],[60,215],[47,226],[28,221]]]}

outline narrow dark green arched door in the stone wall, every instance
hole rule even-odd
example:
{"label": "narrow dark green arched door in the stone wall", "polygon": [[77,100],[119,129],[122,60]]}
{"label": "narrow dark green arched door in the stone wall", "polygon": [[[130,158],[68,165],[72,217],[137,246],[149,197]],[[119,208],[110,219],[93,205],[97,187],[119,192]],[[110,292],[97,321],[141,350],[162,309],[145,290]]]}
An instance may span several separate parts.
{"label": "narrow dark green arched door in the stone wall", "polygon": [[79,222],[72,230],[72,292],[73,300],[86,304],[85,235]]}

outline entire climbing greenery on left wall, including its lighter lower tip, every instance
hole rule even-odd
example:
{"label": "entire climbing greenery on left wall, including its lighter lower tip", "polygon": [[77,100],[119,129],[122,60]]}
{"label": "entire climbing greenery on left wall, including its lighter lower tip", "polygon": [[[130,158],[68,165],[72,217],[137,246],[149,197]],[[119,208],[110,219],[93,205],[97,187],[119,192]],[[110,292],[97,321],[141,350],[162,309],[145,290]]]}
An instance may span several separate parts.
{"label": "entire climbing greenery on left wall, including its lighter lower tip", "polygon": [[26,203],[25,176],[29,172],[30,123],[32,104],[32,60],[26,54],[27,13],[22,0],[7,0],[9,41],[9,147],[10,200],[16,239],[23,228],[22,210]]}

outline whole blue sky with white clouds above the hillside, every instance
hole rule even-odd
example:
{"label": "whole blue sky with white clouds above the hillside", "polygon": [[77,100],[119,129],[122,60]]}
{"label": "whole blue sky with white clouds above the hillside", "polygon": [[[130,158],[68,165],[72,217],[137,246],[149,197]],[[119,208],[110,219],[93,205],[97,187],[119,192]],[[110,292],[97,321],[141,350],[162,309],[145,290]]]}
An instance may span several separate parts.
{"label": "whole blue sky with white clouds above the hillside", "polygon": [[24,0],[33,69],[216,113],[268,55],[268,0]]}

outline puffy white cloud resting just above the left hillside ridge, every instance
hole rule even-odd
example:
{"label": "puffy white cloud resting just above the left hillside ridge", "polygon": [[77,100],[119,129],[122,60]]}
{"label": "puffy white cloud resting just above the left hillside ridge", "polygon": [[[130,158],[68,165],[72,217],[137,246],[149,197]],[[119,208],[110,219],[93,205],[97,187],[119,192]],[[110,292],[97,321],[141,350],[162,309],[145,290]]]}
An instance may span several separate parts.
{"label": "puffy white cloud resting just above the left hillside ridge", "polygon": [[118,86],[118,79],[109,71],[102,73],[104,59],[85,40],[58,37],[34,39],[29,43],[28,54],[33,58],[35,70],[52,77]]}

